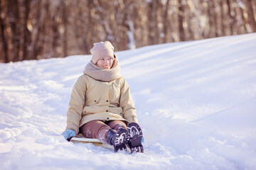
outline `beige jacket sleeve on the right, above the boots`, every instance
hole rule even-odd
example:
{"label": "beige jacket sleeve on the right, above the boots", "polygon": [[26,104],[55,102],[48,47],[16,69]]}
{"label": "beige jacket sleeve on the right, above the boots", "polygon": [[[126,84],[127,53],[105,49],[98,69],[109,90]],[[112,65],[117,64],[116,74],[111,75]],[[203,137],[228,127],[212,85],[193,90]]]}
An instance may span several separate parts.
{"label": "beige jacket sleeve on the right, above the boots", "polygon": [[134,107],[132,95],[130,93],[127,81],[125,81],[125,79],[123,86],[121,87],[121,96],[119,103],[120,107],[123,110],[124,119],[126,119],[129,123],[138,123],[136,108]]}

